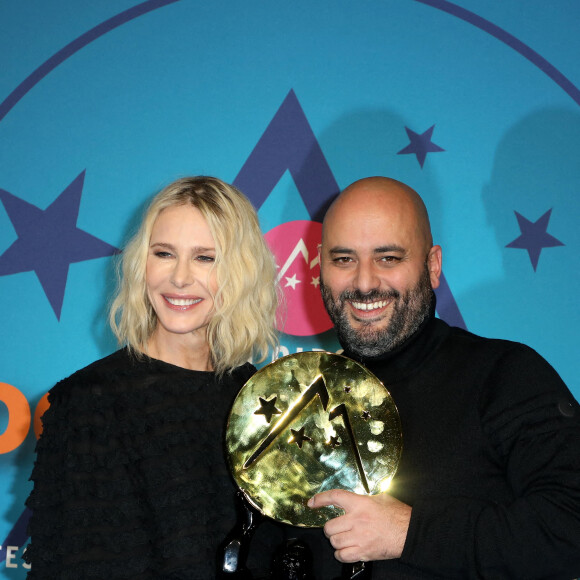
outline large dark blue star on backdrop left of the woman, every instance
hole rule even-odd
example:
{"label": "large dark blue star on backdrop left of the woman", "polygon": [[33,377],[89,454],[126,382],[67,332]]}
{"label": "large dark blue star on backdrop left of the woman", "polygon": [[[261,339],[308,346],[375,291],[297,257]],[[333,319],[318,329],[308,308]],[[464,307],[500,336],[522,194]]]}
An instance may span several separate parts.
{"label": "large dark blue star on backdrop left of the woman", "polygon": [[0,276],[35,272],[58,320],[69,265],[119,251],[76,227],[84,180],[83,171],[45,210],[0,189],[18,236],[0,255]]}

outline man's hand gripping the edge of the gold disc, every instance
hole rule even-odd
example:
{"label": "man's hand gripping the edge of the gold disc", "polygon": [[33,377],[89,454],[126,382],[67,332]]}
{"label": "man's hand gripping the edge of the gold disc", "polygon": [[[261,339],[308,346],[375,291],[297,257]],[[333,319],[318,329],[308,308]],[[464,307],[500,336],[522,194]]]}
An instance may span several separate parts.
{"label": "man's hand gripping the edge of the gold disc", "polygon": [[332,489],[315,495],[311,508],[333,505],[344,515],[326,522],[324,534],[339,562],[368,562],[399,558],[407,538],[411,506],[387,493],[357,495]]}

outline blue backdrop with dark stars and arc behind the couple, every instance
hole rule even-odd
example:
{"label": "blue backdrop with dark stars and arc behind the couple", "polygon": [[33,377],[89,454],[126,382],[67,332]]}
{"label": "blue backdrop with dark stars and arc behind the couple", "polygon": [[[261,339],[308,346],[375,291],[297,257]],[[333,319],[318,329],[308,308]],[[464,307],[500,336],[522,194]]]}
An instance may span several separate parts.
{"label": "blue backdrop with dark stars and arc behind the couple", "polygon": [[311,222],[387,175],[443,246],[438,314],[529,344],[579,398],[579,22],[577,0],[2,2],[0,576],[26,573],[39,401],[116,348],[111,256],[183,175],[259,209],[297,296],[282,354],[338,348],[300,316]]}

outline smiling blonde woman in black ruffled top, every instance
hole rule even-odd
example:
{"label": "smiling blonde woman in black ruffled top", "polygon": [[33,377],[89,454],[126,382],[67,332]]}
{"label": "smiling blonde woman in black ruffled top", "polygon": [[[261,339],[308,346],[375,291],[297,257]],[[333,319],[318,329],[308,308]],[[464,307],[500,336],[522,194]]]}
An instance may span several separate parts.
{"label": "smiling blonde woman in black ruffled top", "polygon": [[111,308],[123,348],[50,392],[30,579],[214,577],[235,518],[223,429],[275,344],[275,279],[233,186],[188,177],[153,199]]}

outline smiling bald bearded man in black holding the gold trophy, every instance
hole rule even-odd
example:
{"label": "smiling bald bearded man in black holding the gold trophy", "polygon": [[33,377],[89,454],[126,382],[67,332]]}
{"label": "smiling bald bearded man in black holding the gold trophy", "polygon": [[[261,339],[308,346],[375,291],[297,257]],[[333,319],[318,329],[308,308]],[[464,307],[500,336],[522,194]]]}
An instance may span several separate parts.
{"label": "smiling bald bearded man in black holding the gold trophy", "polygon": [[321,292],[345,355],[387,386],[403,454],[388,494],[320,493],[324,533],[375,578],[580,576],[580,409],[532,349],[435,318],[441,247],[419,195],[362,179],[332,204]]}

